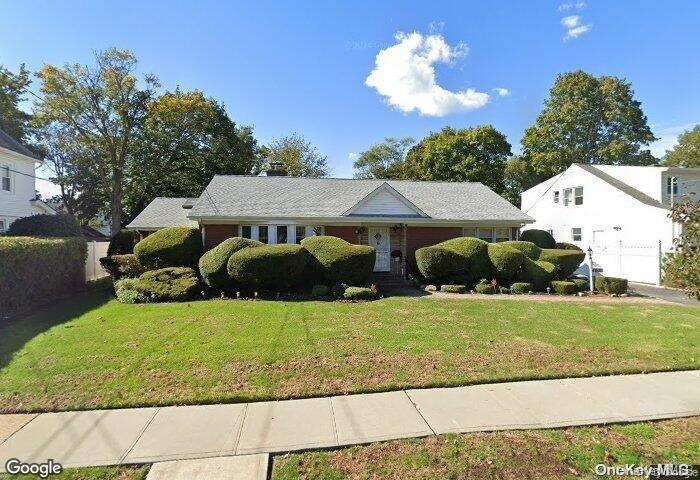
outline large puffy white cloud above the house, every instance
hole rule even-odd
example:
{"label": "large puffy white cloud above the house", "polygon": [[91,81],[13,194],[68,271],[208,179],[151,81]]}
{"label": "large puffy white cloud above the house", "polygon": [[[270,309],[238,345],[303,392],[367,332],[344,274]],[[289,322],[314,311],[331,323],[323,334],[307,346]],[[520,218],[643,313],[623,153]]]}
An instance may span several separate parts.
{"label": "large puffy white cloud above the house", "polygon": [[436,82],[435,64],[453,63],[467,54],[466,45],[452,47],[441,35],[418,32],[399,32],[395,38],[396,44],[379,51],[365,80],[389,105],[402,112],[442,117],[481,108],[489,101],[488,93],[473,88],[452,92]]}

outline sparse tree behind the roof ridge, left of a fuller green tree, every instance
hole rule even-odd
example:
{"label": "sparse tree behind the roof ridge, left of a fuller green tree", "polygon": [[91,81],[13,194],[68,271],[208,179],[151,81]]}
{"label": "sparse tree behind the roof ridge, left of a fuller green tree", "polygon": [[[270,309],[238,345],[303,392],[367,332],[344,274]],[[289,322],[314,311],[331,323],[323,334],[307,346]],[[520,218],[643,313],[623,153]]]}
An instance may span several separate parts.
{"label": "sparse tree behind the roof ridge, left of a fuller green tree", "polygon": [[415,143],[410,137],[386,138],[372,145],[353,162],[355,178],[400,179],[406,177],[408,149]]}

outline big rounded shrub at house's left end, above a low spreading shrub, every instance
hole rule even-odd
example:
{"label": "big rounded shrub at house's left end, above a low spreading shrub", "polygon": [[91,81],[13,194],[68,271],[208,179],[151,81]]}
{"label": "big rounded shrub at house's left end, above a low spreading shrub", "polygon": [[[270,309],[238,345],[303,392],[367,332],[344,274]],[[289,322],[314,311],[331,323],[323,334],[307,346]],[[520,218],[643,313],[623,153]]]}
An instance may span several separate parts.
{"label": "big rounded shrub at house's left end, above a low spreading shrub", "polygon": [[134,254],[149,270],[195,267],[202,255],[202,239],[196,228],[164,228],[137,243]]}

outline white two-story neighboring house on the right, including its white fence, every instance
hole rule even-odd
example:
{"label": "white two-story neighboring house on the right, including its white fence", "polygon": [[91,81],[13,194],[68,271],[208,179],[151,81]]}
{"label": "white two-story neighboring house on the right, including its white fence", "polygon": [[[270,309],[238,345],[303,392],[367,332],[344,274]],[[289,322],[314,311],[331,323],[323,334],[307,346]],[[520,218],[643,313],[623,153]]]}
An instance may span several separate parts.
{"label": "white two-story neighboring house on the right, including its white fence", "polygon": [[527,228],[594,252],[603,275],[659,283],[678,225],[671,202],[700,200],[700,168],[571,165],[521,194]]}

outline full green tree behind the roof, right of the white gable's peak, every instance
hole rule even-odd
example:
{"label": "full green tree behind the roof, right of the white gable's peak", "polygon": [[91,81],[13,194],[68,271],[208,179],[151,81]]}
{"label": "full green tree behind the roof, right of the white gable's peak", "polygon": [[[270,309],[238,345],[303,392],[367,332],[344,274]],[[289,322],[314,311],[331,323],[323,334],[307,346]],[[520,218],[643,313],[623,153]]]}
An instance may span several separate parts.
{"label": "full green tree behind the roof, right of the white gable's peak", "polygon": [[406,155],[407,177],[417,180],[481,182],[502,193],[511,155],[505,135],[490,125],[445,127],[421,140]]}

